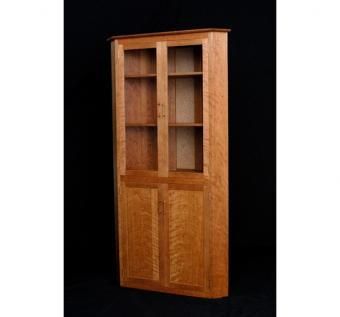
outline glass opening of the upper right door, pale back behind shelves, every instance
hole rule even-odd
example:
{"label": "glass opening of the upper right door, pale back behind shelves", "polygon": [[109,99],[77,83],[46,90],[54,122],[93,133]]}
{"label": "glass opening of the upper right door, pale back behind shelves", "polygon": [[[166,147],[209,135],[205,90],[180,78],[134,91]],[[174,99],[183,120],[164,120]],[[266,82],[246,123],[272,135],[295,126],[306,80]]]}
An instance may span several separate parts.
{"label": "glass opening of the upper right door, pale back behind shelves", "polygon": [[203,172],[202,45],[168,47],[169,171]]}

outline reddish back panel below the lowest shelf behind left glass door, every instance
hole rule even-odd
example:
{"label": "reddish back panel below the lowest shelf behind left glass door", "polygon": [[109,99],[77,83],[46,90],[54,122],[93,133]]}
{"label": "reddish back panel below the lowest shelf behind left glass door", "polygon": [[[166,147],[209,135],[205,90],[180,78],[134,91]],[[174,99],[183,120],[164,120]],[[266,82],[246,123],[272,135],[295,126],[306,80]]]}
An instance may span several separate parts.
{"label": "reddish back panel below the lowest shelf behind left glass door", "polygon": [[126,128],[126,169],[157,169],[157,129],[152,127]]}

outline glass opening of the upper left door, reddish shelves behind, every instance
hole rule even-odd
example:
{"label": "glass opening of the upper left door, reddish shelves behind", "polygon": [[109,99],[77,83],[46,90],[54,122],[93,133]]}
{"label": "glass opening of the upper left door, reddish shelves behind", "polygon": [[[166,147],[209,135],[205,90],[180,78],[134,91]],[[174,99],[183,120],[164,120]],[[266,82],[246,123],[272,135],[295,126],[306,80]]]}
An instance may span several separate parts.
{"label": "glass opening of the upper left door, reddish shelves behind", "polygon": [[126,169],[157,170],[156,48],[124,51]]}

